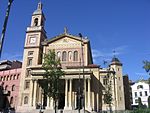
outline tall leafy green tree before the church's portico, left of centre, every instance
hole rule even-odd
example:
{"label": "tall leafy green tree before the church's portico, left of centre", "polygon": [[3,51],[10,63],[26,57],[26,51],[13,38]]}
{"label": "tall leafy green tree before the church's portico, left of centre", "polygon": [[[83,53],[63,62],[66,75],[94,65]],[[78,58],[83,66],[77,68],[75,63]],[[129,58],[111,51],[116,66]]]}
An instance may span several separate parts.
{"label": "tall leafy green tree before the church's portico, left of centre", "polygon": [[43,90],[48,97],[53,98],[56,113],[60,91],[59,82],[64,72],[61,70],[60,59],[56,57],[54,50],[48,50],[48,53],[44,54],[42,67],[45,70]]}

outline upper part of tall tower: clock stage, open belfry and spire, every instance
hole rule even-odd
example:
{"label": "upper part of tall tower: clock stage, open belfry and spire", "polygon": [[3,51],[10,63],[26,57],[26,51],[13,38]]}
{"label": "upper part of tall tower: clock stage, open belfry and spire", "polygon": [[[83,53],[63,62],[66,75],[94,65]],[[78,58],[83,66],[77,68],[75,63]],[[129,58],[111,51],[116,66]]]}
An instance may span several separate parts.
{"label": "upper part of tall tower: clock stage, open belfry and spire", "polygon": [[41,42],[46,38],[44,30],[45,16],[42,11],[42,3],[38,3],[37,9],[33,12],[31,18],[31,25],[26,31],[26,47],[39,47]]}

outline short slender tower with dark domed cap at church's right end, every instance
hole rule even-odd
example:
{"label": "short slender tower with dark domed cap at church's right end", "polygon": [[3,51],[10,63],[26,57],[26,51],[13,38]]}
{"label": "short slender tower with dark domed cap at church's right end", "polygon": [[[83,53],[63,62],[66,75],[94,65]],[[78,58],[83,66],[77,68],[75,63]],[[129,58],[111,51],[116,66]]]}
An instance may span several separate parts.
{"label": "short slender tower with dark domed cap at church's right end", "polygon": [[113,91],[114,91],[114,109],[125,110],[124,102],[124,86],[123,86],[123,75],[122,75],[122,63],[114,56],[112,58],[110,67],[114,71],[113,75]]}

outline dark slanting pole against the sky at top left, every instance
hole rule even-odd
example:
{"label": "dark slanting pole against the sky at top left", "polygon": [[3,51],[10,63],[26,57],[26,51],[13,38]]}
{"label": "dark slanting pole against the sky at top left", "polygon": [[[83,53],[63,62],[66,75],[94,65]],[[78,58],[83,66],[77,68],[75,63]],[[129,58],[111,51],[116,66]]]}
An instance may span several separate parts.
{"label": "dark slanting pole against the sky at top left", "polygon": [[5,37],[5,32],[6,32],[6,28],[7,28],[7,23],[8,23],[8,17],[9,17],[9,13],[10,13],[10,8],[11,8],[11,4],[14,0],[9,0],[8,1],[8,6],[7,6],[7,10],[6,10],[6,16],[5,16],[5,20],[4,20],[4,24],[3,24],[3,29],[2,29],[2,34],[1,34],[1,39],[0,39],[0,57],[2,54],[2,48],[3,48],[3,42],[4,42],[4,37]]}

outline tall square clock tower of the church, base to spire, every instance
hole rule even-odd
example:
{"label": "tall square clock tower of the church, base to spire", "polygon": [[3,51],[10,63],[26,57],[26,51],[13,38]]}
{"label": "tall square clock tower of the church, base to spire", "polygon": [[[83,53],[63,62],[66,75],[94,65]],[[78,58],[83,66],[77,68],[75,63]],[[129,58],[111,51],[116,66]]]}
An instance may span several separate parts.
{"label": "tall square clock tower of the church, base to spire", "polygon": [[32,102],[34,85],[30,69],[42,64],[43,46],[41,43],[47,38],[44,24],[45,16],[42,11],[42,3],[39,2],[37,9],[32,14],[31,24],[26,30],[18,103],[20,109],[26,109],[27,106],[35,107],[35,103]]}

